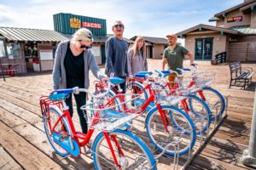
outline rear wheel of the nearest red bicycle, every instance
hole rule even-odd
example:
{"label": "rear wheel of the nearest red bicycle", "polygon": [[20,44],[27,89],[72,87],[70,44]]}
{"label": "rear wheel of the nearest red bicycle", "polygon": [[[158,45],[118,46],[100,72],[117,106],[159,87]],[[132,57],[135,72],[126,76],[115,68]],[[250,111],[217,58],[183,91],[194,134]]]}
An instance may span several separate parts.
{"label": "rear wheel of the nearest red bicycle", "polygon": [[[49,115],[48,115],[49,114]],[[59,144],[56,144],[54,141],[53,133],[58,133],[60,135],[67,134],[71,135],[71,130],[68,127],[67,120],[65,117],[61,119],[60,122],[56,125],[54,131],[53,126],[55,126],[55,123],[58,121],[58,119],[61,117],[61,110],[55,106],[50,105],[49,106],[49,113],[44,116],[44,130],[47,136],[47,139],[49,141],[49,144],[52,146],[52,148],[55,150],[55,152],[60,156],[67,156],[69,153],[67,150],[64,150]]]}

